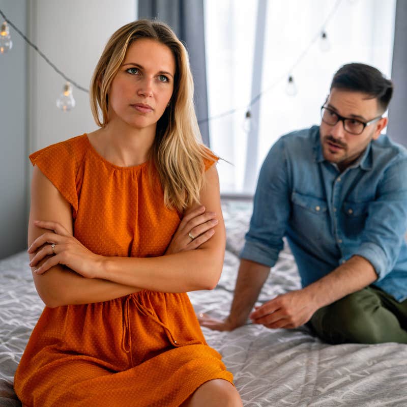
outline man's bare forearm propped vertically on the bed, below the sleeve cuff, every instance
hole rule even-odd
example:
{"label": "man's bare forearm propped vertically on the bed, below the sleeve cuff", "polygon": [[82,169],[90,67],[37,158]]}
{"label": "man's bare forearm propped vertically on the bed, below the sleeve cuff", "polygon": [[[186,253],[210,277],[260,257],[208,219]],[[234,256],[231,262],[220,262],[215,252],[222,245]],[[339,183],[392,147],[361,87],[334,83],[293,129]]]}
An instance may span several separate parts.
{"label": "man's bare forearm propped vertically on the bed, below the sleeve cuff", "polygon": [[268,266],[250,260],[241,260],[235,295],[227,318],[232,328],[246,323],[269,273]]}

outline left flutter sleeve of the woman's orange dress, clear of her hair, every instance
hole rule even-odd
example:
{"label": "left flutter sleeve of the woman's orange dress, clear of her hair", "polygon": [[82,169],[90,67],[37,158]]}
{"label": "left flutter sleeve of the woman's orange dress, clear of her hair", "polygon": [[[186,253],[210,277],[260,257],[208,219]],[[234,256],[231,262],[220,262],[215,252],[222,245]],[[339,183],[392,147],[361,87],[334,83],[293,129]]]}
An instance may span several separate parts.
{"label": "left flutter sleeve of the woman's orange dress, clear of her hair", "polygon": [[77,175],[83,155],[83,136],[52,144],[30,155],[32,164],[38,166],[71,204],[74,217],[78,210]]}

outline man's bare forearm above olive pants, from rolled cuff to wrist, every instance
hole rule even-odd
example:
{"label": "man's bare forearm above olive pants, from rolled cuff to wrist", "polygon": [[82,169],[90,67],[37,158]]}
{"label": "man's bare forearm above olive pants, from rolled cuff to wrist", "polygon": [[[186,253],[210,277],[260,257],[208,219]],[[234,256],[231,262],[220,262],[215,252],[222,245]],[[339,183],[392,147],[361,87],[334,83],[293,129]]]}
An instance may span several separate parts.
{"label": "man's bare forearm above olive pants, from rolled cuff to wrist", "polygon": [[377,279],[373,266],[365,258],[353,256],[323,278],[304,288],[317,309],[368,286]]}

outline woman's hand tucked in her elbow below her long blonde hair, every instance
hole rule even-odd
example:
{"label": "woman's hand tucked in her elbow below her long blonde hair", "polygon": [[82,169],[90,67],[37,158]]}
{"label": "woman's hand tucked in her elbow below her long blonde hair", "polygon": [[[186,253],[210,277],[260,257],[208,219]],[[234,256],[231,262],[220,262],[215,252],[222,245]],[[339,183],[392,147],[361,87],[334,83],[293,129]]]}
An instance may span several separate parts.
{"label": "woman's hand tucked in her elbow below her long blonde hair", "polygon": [[165,254],[196,249],[213,236],[217,223],[216,213],[206,212],[203,206],[186,211]]}

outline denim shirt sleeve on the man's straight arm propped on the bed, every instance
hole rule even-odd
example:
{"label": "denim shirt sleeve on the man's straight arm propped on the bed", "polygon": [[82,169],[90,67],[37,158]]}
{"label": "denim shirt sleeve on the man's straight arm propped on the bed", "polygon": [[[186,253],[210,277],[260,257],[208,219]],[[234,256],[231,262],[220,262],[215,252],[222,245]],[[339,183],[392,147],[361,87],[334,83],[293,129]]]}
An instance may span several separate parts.
{"label": "denim shirt sleeve on the man's straight arm propped on the bed", "polygon": [[290,204],[284,139],[267,155],[257,182],[253,214],[240,257],[272,267],[283,248]]}

